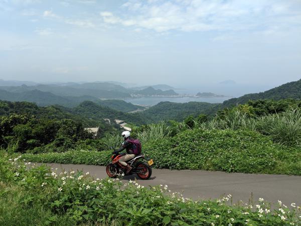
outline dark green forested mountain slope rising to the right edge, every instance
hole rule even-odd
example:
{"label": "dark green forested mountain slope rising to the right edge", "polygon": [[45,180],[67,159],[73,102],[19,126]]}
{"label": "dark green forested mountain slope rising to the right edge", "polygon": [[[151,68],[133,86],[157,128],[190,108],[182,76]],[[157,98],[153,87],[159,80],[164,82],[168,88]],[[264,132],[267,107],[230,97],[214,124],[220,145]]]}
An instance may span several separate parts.
{"label": "dark green forested mountain slope rising to the right edge", "polygon": [[269,89],[264,92],[250,93],[238,98],[231,98],[223,102],[223,106],[232,106],[236,104],[246,103],[249,100],[257,99],[285,99],[285,98],[301,98],[301,79],[298,81],[288,82],[278,87]]}

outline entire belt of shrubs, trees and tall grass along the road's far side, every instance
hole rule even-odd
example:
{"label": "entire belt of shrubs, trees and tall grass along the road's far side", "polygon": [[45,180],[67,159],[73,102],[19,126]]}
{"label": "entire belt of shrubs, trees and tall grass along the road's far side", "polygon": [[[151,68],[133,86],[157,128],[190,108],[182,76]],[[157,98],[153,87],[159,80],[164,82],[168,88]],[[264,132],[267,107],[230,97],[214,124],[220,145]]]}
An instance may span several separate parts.
{"label": "entire belt of shrubs, trees and tall grass along the road's far side", "polygon": [[[118,132],[92,139],[74,120],[2,117],[3,149],[28,161],[105,165],[122,142]],[[187,117],[136,127],[132,136],[157,168],[301,175],[301,110],[297,100],[257,100],[214,118]],[[38,147],[37,147],[38,146]]]}

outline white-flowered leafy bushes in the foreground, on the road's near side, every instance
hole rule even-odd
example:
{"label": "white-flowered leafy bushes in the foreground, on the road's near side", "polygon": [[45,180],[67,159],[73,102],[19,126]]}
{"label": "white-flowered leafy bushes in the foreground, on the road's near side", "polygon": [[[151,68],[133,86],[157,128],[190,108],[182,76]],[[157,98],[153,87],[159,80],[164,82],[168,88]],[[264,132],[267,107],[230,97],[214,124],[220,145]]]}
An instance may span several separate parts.
{"label": "white-flowered leafy bushes in the foreground, on the road's near side", "polygon": [[[168,185],[145,188],[136,181],[95,179],[89,173],[50,171],[45,166],[30,168],[21,157],[1,159],[0,178],[10,186],[26,190],[30,199],[52,212],[44,224],[70,222],[116,225],[300,225],[301,211],[295,203],[288,208],[280,201],[271,209],[259,199],[255,206],[232,205],[229,194],[217,200],[187,199],[172,193]],[[1,196],[0,196],[1,197]],[[6,211],[1,210],[0,211]],[[0,217],[0,224],[6,219]]]}

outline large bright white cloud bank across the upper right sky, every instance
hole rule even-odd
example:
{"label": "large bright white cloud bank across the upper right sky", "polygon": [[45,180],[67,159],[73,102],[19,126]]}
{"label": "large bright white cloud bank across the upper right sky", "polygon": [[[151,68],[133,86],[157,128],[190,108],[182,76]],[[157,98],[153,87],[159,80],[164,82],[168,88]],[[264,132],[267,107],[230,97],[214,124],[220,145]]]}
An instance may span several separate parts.
{"label": "large bright white cloud bank across the upper right sky", "polygon": [[301,5],[297,1],[273,0],[131,0],[120,7],[122,11],[118,16],[101,12],[103,22],[157,32],[256,30],[273,26],[277,21],[281,23],[289,15],[301,14]]}

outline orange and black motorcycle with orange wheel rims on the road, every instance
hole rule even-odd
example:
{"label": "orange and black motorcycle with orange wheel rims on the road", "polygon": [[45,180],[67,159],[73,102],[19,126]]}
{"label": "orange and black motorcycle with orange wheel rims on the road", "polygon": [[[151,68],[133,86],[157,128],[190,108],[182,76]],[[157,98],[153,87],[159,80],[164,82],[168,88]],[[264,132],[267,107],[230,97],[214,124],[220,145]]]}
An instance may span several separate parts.
{"label": "orange and black motorcycle with orange wheel rims on the road", "polygon": [[132,169],[126,174],[126,168],[119,163],[119,159],[124,156],[125,153],[115,154],[111,157],[112,162],[106,166],[106,173],[109,177],[115,178],[118,174],[131,175],[133,173],[142,180],[147,180],[152,175],[153,159],[146,158],[144,155],[136,155],[133,159],[127,161],[127,164]]}

